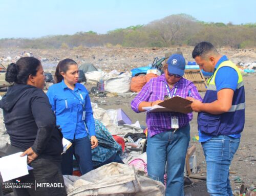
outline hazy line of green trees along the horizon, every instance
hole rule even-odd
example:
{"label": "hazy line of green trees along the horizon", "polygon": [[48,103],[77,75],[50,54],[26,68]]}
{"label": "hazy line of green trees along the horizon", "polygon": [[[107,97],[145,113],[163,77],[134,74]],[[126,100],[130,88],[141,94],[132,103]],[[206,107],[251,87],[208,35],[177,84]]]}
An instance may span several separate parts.
{"label": "hazy line of green trees along the horizon", "polygon": [[89,31],[34,39],[5,38],[0,39],[0,48],[172,47],[195,46],[200,41],[210,41],[216,47],[256,47],[256,23],[205,23],[190,15],[175,14],[106,34]]}

